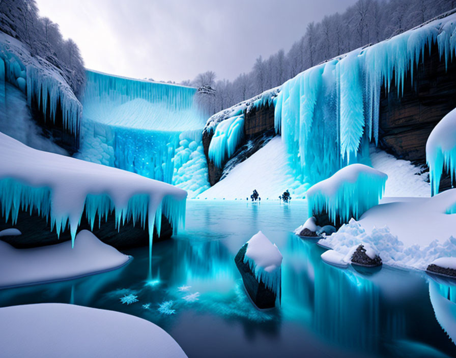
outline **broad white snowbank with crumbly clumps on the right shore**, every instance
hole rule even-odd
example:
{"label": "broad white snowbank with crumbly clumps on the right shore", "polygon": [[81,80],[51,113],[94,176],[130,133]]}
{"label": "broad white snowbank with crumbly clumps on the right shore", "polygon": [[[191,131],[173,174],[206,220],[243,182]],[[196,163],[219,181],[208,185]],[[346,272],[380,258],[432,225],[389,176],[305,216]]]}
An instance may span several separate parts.
{"label": "broad white snowbank with crumbly clumps on the right shore", "polygon": [[394,198],[352,219],[319,244],[347,255],[354,246],[375,248],[383,263],[425,270],[439,257],[456,256],[456,189],[432,198]]}

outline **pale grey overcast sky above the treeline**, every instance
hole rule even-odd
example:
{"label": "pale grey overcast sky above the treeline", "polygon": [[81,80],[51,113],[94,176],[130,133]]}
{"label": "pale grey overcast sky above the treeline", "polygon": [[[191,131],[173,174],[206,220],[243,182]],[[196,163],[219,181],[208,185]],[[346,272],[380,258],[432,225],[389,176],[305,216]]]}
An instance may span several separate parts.
{"label": "pale grey overcast sky above the treeline", "polygon": [[307,23],[355,0],[36,0],[86,67],[180,82],[212,70],[233,80],[255,58],[288,51]]}

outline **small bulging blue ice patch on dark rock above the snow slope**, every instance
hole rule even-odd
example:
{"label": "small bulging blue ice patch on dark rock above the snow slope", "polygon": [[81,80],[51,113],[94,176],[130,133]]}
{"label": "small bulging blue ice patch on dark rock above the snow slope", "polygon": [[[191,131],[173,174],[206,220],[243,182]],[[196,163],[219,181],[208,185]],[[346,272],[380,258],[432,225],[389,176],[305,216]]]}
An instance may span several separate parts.
{"label": "small bulging blue ice patch on dark rock above the snow slope", "polygon": [[230,158],[244,137],[244,114],[239,114],[220,122],[215,128],[209,144],[209,159],[220,168],[226,158]]}

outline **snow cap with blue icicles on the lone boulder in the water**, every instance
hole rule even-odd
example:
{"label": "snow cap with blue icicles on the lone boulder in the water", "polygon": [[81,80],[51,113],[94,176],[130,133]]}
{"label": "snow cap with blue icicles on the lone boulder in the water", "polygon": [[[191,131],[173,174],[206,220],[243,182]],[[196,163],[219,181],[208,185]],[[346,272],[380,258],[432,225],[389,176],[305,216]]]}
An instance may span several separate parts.
{"label": "snow cap with blue icicles on the lone boulder in the water", "polygon": [[247,241],[244,263],[250,266],[258,281],[279,296],[282,255],[263,232],[258,231]]}

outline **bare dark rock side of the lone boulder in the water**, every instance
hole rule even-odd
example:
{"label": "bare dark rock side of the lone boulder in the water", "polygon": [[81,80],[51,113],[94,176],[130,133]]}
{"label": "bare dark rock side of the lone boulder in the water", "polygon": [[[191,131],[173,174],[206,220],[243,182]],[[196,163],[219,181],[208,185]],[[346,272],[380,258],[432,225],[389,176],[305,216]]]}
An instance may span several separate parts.
{"label": "bare dark rock side of the lone boulder in the water", "polygon": [[249,294],[250,299],[258,308],[273,308],[275,307],[277,296],[272,290],[267,288],[262,281],[257,281],[248,263],[244,262],[246,251],[247,244],[244,244],[234,258],[236,266],[241,273],[242,280],[244,281],[245,289]]}

